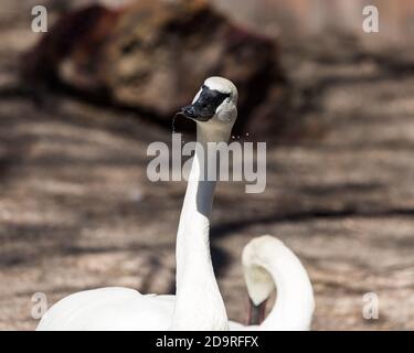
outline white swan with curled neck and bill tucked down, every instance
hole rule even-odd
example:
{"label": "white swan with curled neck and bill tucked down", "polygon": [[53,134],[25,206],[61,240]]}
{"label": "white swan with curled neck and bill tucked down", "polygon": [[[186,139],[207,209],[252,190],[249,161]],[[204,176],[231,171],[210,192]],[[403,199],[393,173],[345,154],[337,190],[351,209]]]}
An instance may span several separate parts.
{"label": "white swan with curled neck and bill tucked down", "polygon": [[259,325],[231,323],[232,330],[307,331],[315,310],[314,290],[308,274],[295,254],[279,239],[264,235],[243,249],[243,272],[251,300],[251,322],[264,319],[270,293],[277,300]]}

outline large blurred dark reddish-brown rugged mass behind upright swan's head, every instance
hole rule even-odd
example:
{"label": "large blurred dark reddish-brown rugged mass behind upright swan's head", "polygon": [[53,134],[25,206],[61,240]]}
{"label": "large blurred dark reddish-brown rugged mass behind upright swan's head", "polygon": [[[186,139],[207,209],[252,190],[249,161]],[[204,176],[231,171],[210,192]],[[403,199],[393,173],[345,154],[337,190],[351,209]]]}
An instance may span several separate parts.
{"label": "large blurred dark reddish-brown rugged mass behind upright swan's head", "polygon": [[262,129],[277,115],[279,101],[270,99],[283,82],[277,57],[275,41],[231,23],[204,0],[141,0],[63,15],[25,55],[24,76],[167,121],[205,77],[221,75],[240,88],[238,128],[254,131],[247,120],[255,108],[266,111]]}

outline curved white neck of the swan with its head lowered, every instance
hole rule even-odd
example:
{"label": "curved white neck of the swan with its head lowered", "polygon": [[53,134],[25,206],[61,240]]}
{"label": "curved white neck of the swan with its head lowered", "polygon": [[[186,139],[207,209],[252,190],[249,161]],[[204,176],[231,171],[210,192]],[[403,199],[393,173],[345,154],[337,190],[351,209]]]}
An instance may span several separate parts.
{"label": "curved white neck of the swan with its head lowered", "polygon": [[315,299],[308,274],[289,248],[275,238],[273,240],[264,244],[245,268],[245,271],[265,270],[277,288],[276,303],[258,329],[309,330]]}

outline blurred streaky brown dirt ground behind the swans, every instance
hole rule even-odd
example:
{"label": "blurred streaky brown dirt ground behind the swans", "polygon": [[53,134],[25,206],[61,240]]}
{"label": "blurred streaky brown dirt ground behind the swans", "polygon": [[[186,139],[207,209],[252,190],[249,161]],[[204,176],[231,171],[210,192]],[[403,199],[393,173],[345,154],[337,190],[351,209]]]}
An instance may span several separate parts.
{"label": "blurred streaky brown dirt ground behind the swans", "polygon": [[[148,143],[170,131],[15,89],[17,57],[35,35],[23,20],[4,25],[10,15],[1,13],[0,31],[0,329],[35,328],[34,292],[50,303],[103,286],[173,292],[185,184],[146,176]],[[219,185],[212,250],[229,315],[245,317],[243,246],[273,234],[309,271],[314,330],[412,330],[414,56],[390,63],[347,41],[284,55],[298,96],[311,101],[297,114],[317,132],[268,146],[265,193]],[[379,320],[362,318],[367,292],[379,296]]]}

